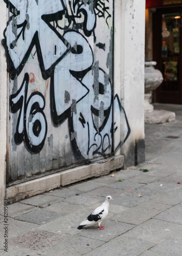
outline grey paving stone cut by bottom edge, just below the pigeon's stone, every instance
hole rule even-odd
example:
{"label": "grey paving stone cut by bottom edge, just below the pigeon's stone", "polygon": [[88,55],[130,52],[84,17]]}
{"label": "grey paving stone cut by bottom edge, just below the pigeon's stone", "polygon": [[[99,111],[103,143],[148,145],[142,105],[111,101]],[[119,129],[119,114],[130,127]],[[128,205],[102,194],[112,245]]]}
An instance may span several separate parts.
{"label": "grey paving stone cut by bottom edge, just below the pigeon's stone", "polygon": [[86,253],[86,256],[105,255],[105,256],[138,256],[143,251],[154,246],[153,243],[145,240],[128,238],[126,234],[119,236],[110,242]]}

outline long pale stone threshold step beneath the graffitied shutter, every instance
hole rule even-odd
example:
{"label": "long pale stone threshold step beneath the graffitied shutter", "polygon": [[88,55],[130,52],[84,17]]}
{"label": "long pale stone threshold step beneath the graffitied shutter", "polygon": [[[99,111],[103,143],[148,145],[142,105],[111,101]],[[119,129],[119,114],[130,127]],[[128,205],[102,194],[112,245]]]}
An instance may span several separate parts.
{"label": "long pale stone threshold step beneath the graffitied shutter", "polygon": [[99,160],[91,164],[71,168],[60,173],[47,175],[35,180],[7,187],[6,198],[10,203],[13,203],[60,186],[66,186],[88,178],[109,174],[112,170],[122,168],[123,165],[123,155]]}

